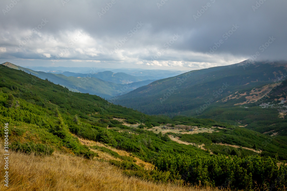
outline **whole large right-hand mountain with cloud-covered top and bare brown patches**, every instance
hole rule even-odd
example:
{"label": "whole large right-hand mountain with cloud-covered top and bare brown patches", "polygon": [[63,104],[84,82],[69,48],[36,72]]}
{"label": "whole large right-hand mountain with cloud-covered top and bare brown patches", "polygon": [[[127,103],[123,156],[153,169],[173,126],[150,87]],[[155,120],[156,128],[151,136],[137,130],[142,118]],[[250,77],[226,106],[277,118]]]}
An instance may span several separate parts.
{"label": "whole large right-hand mountain with cloud-covered top and bare brown patches", "polygon": [[[259,106],[262,101],[258,104],[286,79],[286,71],[287,62],[251,63],[246,60],[157,80],[113,99],[113,103],[146,114],[216,119],[260,129],[261,133],[272,131],[287,135],[286,120],[278,117],[278,110],[286,110],[286,102],[269,108]],[[276,99],[278,103],[286,99],[284,88]],[[255,111],[260,116],[257,119],[252,115]],[[274,117],[278,121],[276,125],[273,125]]]}

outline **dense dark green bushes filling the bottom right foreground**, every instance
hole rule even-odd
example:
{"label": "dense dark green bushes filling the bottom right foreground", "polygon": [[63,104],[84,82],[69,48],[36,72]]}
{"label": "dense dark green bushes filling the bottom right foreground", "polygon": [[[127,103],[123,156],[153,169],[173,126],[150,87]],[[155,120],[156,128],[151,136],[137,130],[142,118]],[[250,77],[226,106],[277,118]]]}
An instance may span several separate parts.
{"label": "dense dark green bushes filling the bottom right foreground", "polygon": [[254,189],[266,185],[267,188],[282,188],[287,184],[287,166],[277,166],[278,160],[260,156],[245,158],[213,155],[211,157],[162,154],[156,167],[170,171],[176,177],[189,183],[222,186],[227,181],[232,189]]}

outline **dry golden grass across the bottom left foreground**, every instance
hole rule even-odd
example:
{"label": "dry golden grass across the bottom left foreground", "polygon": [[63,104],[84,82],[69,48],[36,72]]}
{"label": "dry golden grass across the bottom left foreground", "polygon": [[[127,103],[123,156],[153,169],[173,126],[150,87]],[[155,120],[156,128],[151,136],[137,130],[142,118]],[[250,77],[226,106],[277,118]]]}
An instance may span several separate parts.
{"label": "dry golden grass across the bottom left foreground", "polygon": [[[4,156],[2,145],[0,154]],[[86,160],[81,157],[53,153],[49,157],[35,157],[10,152],[9,187],[4,186],[4,160],[0,160],[0,190],[5,191],[90,191],[90,190],[208,190],[217,188],[184,187],[153,183],[123,175],[122,170],[107,162]]]}

